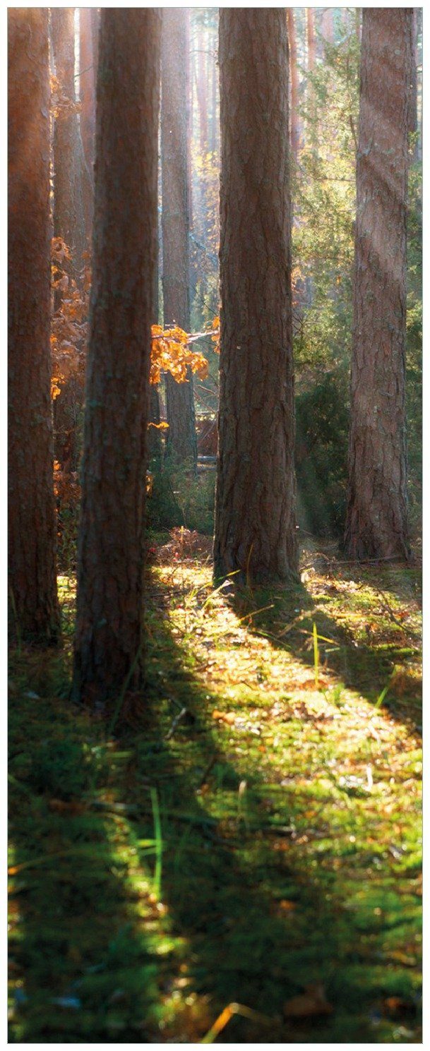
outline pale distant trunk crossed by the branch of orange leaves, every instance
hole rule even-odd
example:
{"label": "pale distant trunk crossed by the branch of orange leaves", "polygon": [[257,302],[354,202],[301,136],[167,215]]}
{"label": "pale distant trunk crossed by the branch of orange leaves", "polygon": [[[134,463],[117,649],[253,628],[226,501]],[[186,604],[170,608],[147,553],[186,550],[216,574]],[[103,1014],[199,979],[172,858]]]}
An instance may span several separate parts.
{"label": "pale distant trunk crossed by the branch of orange leaves", "polygon": [[[188,13],[165,7],[162,32],[161,164],[164,324],[189,331],[188,245]],[[192,375],[177,384],[166,374],[167,452],[197,469]]]}

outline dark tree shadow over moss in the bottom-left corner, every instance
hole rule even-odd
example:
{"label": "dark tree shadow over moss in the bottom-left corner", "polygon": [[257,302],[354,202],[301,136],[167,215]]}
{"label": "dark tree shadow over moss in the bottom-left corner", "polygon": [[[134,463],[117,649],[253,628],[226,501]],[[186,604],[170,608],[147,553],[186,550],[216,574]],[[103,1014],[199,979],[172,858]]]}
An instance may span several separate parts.
{"label": "dark tree shadow over moss in the bottom-left corner", "polygon": [[62,654],[11,663],[9,1038],[140,1043],[157,957],[130,886],[132,837],[96,805],[121,761],[102,724],[68,704]]}

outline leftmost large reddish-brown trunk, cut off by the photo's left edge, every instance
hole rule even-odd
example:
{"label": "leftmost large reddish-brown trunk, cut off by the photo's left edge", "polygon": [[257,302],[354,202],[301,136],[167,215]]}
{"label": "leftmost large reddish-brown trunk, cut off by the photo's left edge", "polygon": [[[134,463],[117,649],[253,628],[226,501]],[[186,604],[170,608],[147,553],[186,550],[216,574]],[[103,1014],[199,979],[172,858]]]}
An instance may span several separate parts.
{"label": "leftmost large reddish-brown trunk, cut off by the photo's left edge", "polygon": [[8,12],[8,570],[18,635],[58,635],[47,8]]}

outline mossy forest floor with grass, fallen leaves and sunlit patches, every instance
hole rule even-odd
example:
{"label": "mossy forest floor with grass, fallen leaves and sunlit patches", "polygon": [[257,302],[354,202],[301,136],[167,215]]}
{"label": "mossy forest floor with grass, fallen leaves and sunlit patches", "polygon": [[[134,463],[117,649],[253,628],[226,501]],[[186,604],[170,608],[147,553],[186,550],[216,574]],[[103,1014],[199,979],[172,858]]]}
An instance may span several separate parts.
{"label": "mossy forest floor with grass, fallen leaves and sunlit patches", "polygon": [[419,1043],[419,570],[309,539],[238,597],[209,549],[151,540],[107,728],[67,700],[71,578],[62,651],[11,655],[9,1038]]}

